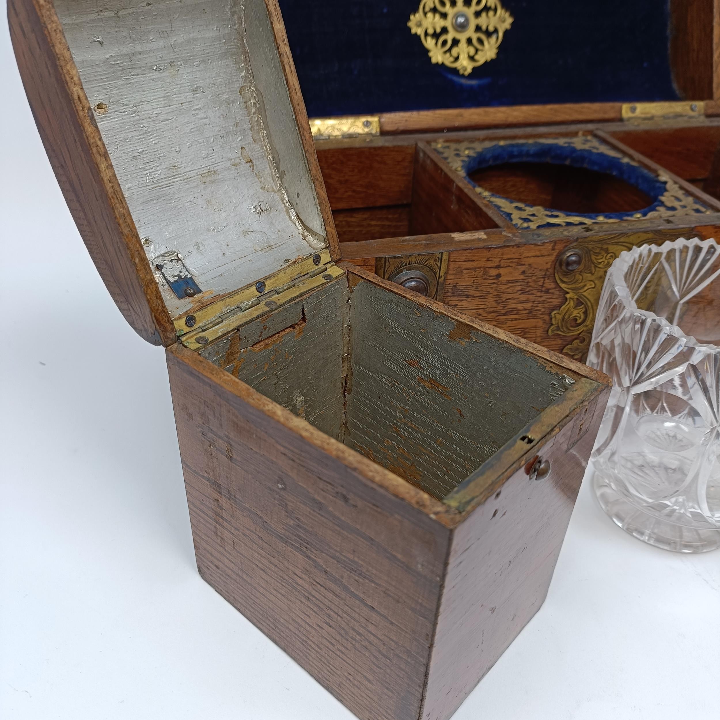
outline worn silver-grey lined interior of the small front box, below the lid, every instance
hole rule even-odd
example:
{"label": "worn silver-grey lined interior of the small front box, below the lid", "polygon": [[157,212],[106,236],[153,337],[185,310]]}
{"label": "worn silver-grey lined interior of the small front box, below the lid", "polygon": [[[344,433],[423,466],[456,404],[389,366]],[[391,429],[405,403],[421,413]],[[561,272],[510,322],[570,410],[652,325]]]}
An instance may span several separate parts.
{"label": "worn silver-grey lined interior of the small front box, below the lid", "polygon": [[520,348],[347,276],[201,353],[440,500],[569,387]]}

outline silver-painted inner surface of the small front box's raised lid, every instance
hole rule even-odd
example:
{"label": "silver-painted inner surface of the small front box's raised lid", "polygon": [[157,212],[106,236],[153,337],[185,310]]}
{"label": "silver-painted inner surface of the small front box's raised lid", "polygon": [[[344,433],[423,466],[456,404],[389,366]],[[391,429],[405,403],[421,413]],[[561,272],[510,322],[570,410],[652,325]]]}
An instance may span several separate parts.
{"label": "silver-painted inner surface of the small front box's raised lid", "polygon": [[171,318],[328,247],[272,2],[55,11]]}

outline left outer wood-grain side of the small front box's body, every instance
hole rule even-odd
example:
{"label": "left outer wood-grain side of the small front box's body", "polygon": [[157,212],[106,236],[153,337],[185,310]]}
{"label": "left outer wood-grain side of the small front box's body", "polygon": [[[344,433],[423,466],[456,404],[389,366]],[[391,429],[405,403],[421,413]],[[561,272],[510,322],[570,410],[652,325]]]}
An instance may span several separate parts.
{"label": "left outer wood-grain side of the small front box's body", "polygon": [[361,719],[417,719],[449,530],[187,352],[168,369],[201,575]]}

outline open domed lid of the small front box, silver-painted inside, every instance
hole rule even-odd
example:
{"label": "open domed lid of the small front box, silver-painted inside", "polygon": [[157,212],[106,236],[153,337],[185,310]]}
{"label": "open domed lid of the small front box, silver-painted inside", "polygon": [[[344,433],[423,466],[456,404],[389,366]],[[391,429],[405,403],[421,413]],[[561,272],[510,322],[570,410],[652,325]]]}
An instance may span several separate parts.
{"label": "open domed lid of the small front box, silver-painted inside", "polygon": [[275,0],[11,0],[9,18],[68,206],[145,339],[168,345],[176,318],[336,258]]}

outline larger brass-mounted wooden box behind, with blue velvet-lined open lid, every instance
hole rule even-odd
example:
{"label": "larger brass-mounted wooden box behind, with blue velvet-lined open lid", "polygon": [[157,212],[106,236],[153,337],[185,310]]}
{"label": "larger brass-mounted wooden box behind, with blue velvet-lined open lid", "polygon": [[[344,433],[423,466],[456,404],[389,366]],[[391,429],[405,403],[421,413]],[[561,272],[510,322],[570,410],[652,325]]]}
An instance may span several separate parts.
{"label": "larger brass-mounted wooden box behind, with blue velvet-lined open lid", "polygon": [[[385,11],[380,12],[368,0],[363,6],[371,6],[372,12],[362,14],[358,9],[358,17],[351,18],[336,0],[323,3],[322,9],[294,0],[280,0],[280,5],[346,260],[582,360],[605,272],[621,251],[642,243],[682,236],[708,238],[720,232],[720,6],[716,0],[580,5],[566,0],[535,4],[503,0],[502,6],[515,17],[502,38],[498,58],[467,77],[433,64],[418,36],[411,33],[408,16],[413,12],[415,17],[416,2],[385,3]],[[487,4],[485,11],[490,5],[495,3]],[[456,6],[468,11],[469,0],[457,0]],[[420,14],[423,8],[444,17],[443,7],[432,0],[420,3]],[[608,73],[619,76],[631,46],[644,35],[662,31],[662,17],[652,27],[647,25],[649,18],[661,14],[668,27],[665,39],[657,38],[655,45],[665,42],[661,52],[674,91],[648,90],[639,80],[626,81],[618,89],[592,89],[588,78],[559,102],[573,61],[588,76],[593,71],[590,66],[598,66],[600,72],[608,66]],[[372,54],[366,55],[364,48]],[[588,48],[583,59],[573,58],[572,53]],[[378,57],[382,53],[394,53],[395,85],[379,96],[374,84],[382,82],[383,73],[373,74],[372,68],[382,66]],[[548,98],[539,102],[549,104],[528,104],[528,91],[523,96],[515,88],[519,76],[503,76],[500,63],[513,57],[523,72],[532,73],[539,66],[536,75]],[[634,68],[628,72],[635,72]],[[348,88],[344,104],[328,99],[329,92],[323,90],[323,83],[332,84],[334,76],[343,78],[342,85]],[[496,76],[506,80],[508,100],[502,106],[441,105],[451,102],[442,94],[446,86],[476,77],[494,81]],[[410,99],[402,91],[406,84],[417,86]],[[339,85],[338,81],[332,86],[336,93],[341,93]],[[383,112],[400,104],[395,95],[415,109]],[[595,96],[603,102],[590,102]],[[616,102],[608,102],[608,97]],[[362,108],[361,114],[327,113],[328,107],[342,112],[351,103]],[[318,112],[324,117],[312,117]],[[524,225],[522,220],[513,223],[475,192],[477,187],[456,170],[454,160],[433,149],[437,143],[487,145],[547,138],[593,140],[649,174],[667,179],[685,200],[702,204],[706,211],[688,212],[687,207],[676,209],[670,203],[660,212],[633,217],[644,207],[642,198],[634,197],[636,188],[613,184],[606,176],[594,187],[570,188],[575,192],[565,198],[570,199],[567,210],[579,210],[572,203],[591,199],[598,204],[595,214],[626,210],[625,219],[563,224],[556,218],[549,224],[534,217]],[[514,172],[508,164],[485,168],[475,183],[500,196],[525,199],[528,205],[556,207],[552,193],[562,184],[562,176],[557,179],[552,173],[538,174],[537,168],[514,167]],[[568,184],[586,180],[568,176],[565,190]]]}

